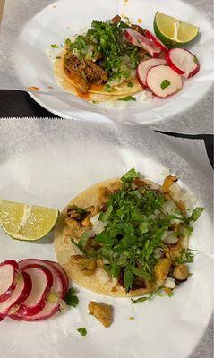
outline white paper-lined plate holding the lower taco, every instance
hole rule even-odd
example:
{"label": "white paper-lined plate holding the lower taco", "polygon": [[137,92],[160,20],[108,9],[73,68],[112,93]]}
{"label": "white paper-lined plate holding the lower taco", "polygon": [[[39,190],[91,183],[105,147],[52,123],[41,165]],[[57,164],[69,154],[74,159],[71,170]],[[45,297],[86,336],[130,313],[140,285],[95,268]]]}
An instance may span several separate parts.
{"label": "white paper-lined plate holding the lower taco", "polygon": [[[62,209],[92,183],[122,175],[135,166],[161,182],[165,166],[199,196],[206,210],[195,225],[192,248],[201,250],[193,276],[175,295],[133,305],[78,287],[80,305],[51,320],[28,323],[6,319],[0,324],[1,358],[186,358],[199,342],[211,315],[213,251],[209,205],[211,175],[206,157],[144,128],[83,124],[66,120],[0,120],[0,198]],[[194,145],[196,147],[194,147]],[[189,148],[189,149],[188,149]],[[200,148],[200,147],[199,147]],[[206,155],[205,155],[206,156]],[[208,160],[208,159],[207,159]],[[206,185],[204,185],[206,183]],[[55,260],[52,236],[35,243],[0,232],[0,261]],[[90,300],[114,306],[110,328],[88,315]],[[134,321],[129,320],[133,316]],[[85,327],[87,337],[76,329]]]}

